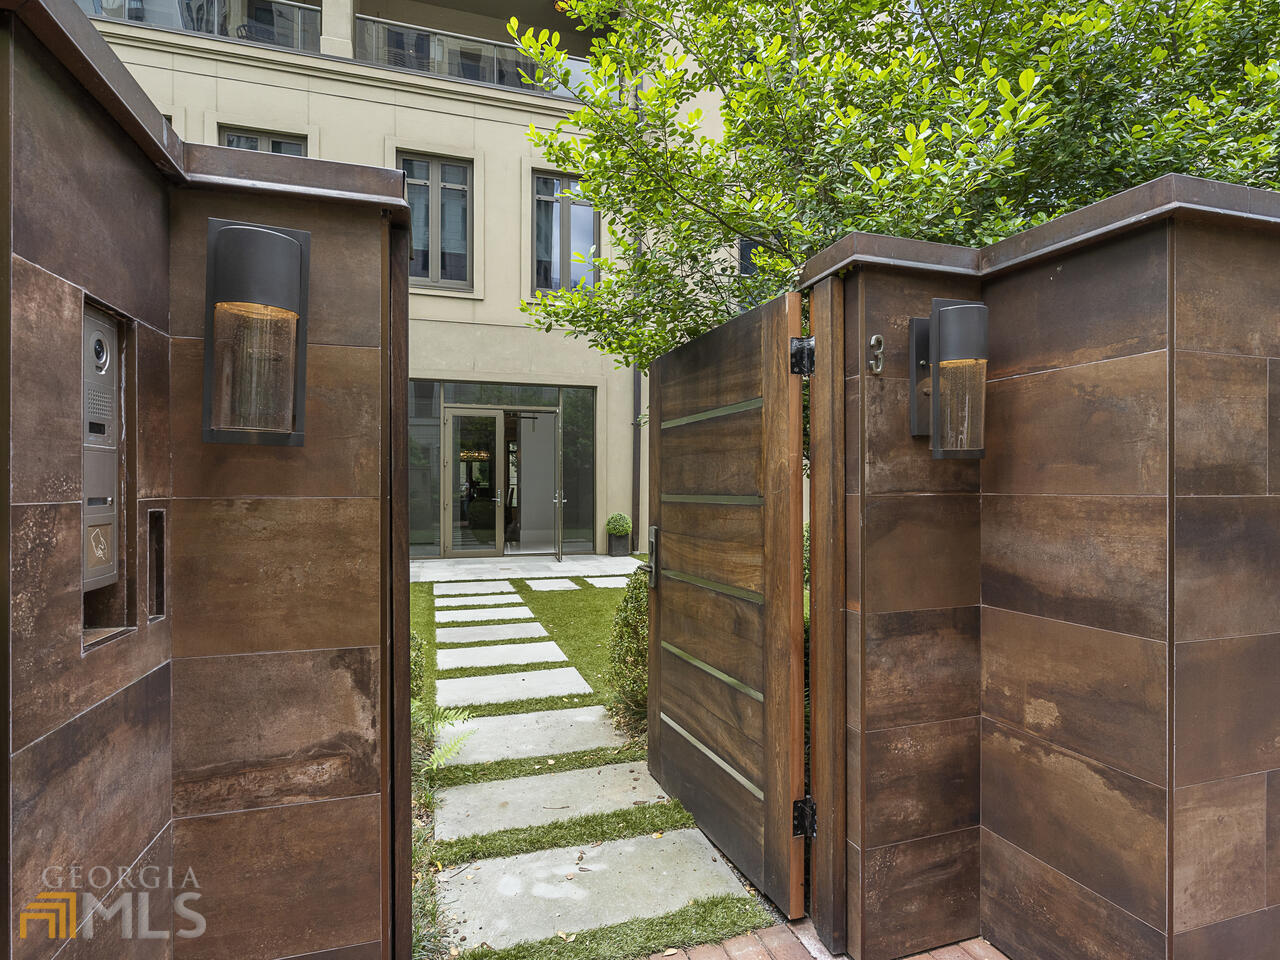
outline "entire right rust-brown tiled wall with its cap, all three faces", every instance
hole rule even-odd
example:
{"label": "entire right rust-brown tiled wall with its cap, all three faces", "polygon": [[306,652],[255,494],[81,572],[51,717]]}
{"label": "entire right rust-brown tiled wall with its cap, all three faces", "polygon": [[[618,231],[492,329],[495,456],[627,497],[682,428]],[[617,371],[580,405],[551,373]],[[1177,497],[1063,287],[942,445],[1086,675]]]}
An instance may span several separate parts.
{"label": "entire right rust-brown tiled wall with its cap, all three faces", "polygon": [[[1280,196],[844,247],[850,954],[1275,960]],[[908,429],[933,297],[989,306],[980,463]]]}

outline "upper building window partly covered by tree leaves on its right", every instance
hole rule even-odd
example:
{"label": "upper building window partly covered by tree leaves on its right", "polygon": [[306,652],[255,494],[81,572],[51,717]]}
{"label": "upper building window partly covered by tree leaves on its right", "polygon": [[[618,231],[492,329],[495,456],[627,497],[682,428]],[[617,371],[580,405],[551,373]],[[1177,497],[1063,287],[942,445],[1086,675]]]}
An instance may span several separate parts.
{"label": "upper building window partly covered by tree leaves on its right", "polygon": [[[534,174],[534,289],[594,287],[600,220],[573,177]],[[581,255],[586,262],[575,260]]]}

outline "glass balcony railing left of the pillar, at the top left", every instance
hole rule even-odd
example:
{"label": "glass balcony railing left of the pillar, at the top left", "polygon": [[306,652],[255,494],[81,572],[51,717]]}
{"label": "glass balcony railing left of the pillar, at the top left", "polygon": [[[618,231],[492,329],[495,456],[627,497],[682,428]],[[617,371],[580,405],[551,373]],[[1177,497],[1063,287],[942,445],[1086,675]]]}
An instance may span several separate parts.
{"label": "glass balcony railing left of the pillar, at the top left", "polygon": [[90,17],[320,52],[320,8],[291,0],[76,0]]}

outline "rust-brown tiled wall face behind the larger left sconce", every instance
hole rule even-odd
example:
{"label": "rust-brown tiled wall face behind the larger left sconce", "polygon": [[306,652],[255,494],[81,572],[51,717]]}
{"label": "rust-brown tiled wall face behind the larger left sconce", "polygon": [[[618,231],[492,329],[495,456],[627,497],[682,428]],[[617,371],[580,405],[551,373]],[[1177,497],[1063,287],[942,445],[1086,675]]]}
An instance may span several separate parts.
{"label": "rust-brown tiled wall face behind the larger left sconce", "polygon": [[[236,193],[170,205],[174,858],[210,886],[209,932],[174,955],[360,956],[385,895],[387,224]],[[311,233],[302,447],[201,439],[210,216]]]}

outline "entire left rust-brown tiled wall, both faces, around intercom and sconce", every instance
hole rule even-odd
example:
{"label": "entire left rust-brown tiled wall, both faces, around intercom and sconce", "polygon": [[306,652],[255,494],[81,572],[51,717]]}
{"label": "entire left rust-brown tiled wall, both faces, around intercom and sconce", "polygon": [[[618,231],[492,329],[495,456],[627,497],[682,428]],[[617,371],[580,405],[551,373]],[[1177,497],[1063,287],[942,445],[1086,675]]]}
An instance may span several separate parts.
{"label": "entire left rust-brown tiled wall, both faces, around intercom and sconce", "polygon": [[[41,13],[46,27],[73,15]],[[381,957],[393,872],[387,209],[398,180],[380,209],[324,195],[392,172],[188,148],[186,179],[166,174],[47,36],[0,15],[12,64],[12,956]],[[300,172],[298,196],[262,187]],[[224,182],[193,189],[197,174]],[[305,447],[201,442],[210,216],[312,234]],[[125,330],[124,518],[137,536],[120,588],[129,632],[82,654],[86,302]],[[147,609],[151,509],[166,512],[163,616]],[[20,937],[46,868],[74,864],[172,865],[179,883],[191,868],[204,936],[125,940],[100,920],[92,940]],[[191,925],[166,896],[150,908],[154,931]]]}

